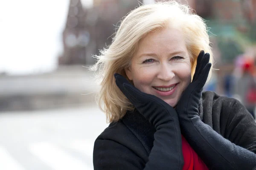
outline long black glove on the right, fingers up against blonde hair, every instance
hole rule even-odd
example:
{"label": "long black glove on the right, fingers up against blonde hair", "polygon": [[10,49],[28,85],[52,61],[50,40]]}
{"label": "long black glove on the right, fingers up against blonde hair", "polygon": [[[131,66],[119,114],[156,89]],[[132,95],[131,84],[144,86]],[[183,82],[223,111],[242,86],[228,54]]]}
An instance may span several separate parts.
{"label": "long black glove on the right, fingers up against blonde hair", "polygon": [[246,150],[215,132],[198,116],[201,92],[207,80],[211,63],[204,51],[198,56],[193,81],[183,92],[176,106],[183,136],[211,170],[256,169],[256,154]]}

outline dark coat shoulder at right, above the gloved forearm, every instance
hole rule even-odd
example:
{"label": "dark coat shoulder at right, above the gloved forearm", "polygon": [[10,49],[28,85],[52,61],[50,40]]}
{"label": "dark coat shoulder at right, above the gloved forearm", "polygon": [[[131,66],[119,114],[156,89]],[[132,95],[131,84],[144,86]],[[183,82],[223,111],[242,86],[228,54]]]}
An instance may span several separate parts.
{"label": "dark coat shoulder at right, above the gloved forearm", "polygon": [[202,94],[204,118],[216,132],[234,144],[256,152],[256,123],[239,100],[206,91]]}

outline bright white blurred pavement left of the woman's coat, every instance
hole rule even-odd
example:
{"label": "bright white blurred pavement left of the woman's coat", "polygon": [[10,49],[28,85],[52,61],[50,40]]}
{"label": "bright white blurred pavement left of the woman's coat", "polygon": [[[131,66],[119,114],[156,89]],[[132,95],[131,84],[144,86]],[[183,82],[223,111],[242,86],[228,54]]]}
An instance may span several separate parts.
{"label": "bright white blurred pavement left of the woman's coat", "polygon": [[0,114],[0,170],[93,170],[93,144],[108,126],[95,104]]}

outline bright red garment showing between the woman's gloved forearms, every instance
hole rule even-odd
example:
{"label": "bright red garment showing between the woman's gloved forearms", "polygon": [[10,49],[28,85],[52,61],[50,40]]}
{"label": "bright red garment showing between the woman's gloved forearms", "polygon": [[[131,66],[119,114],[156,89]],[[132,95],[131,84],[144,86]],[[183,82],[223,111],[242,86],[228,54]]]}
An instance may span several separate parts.
{"label": "bright red garment showing between the woman's gloved forearms", "polygon": [[186,139],[182,137],[182,153],[184,166],[182,170],[208,170],[202,159],[195,153],[195,150],[189,145]]}

